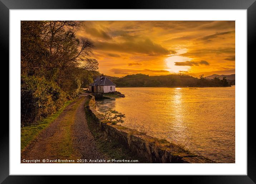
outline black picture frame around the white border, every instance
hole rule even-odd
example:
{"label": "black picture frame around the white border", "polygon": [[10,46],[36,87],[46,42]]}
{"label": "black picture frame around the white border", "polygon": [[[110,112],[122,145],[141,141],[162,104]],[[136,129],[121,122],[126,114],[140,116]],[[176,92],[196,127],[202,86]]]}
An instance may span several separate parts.
{"label": "black picture frame around the white border", "polygon": [[[9,76],[9,10],[11,9],[246,9],[247,10],[247,65],[255,53],[256,45],[256,2],[255,0],[140,0],[140,1],[90,1],[90,0],[0,0],[0,48],[2,66]],[[33,17],[33,16],[31,16]],[[3,57],[5,56],[5,57]],[[254,59],[255,60],[255,59]],[[238,69],[239,70],[239,69]],[[9,80],[2,80],[1,96],[9,96]],[[11,97],[9,97],[11,98]],[[6,103],[9,107],[9,102]],[[4,110],[5,109],[5,110]],[[2,110],[2,116],[9,114],[9,108]],[[6,111],[6,112],[4,112]],[[8,112],[7,112],[8,111]],[[248,113],[247,113],[248,114]],[[171,176],[190,183],[255,183],[256,182],[256,152],[253,122],[247,123],[247,175],[211,175],[211,176]],[[3,183],[53,183],[52,176],[21,176],[9,175],[9,125],[2,121],[0,128],[0,182]],[[55,176],[59,183],[68,182],[65,176]],[[87,176],[87,182],[94,178]],[[110,179],[108,177],[107,179]],[[151,180],[151,177],[147,177]],[[164,179],[164,178],[161,178]],[[95,180],[95,179],[94,179]],[[97,177],[97,182],[106,180]],[[112,179],[111,179],[112,180]],[[134,176],[126,176],[123,183],[133,183]]]}

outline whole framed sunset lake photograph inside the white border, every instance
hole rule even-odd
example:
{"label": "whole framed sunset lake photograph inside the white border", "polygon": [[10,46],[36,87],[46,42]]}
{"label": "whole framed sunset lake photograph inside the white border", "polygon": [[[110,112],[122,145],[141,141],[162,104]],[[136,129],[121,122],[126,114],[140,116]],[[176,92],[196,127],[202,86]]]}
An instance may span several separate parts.
{"label": "whole framed sunset lake photograph inside the white border", "polygon": [[236,163],[235,35],[233,20],[21,20],[20,163]]}

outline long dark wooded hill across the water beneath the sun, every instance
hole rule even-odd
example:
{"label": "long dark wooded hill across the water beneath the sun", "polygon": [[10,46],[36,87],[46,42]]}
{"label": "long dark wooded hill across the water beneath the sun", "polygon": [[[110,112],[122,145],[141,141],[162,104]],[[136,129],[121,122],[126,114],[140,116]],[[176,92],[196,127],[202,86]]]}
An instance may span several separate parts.
{"label": "long dark wooded hill across the water beneath the sun", "polygon": [[149,76],[145,74],[127,75],[112,80],[117,87],[221,87],[230,86],[227,81],[195,78],[184,74]]}

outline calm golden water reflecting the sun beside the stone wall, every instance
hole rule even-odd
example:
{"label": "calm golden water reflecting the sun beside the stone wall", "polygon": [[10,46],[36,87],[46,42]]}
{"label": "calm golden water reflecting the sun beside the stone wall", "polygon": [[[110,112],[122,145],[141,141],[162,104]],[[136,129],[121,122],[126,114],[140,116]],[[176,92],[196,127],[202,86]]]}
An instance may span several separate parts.
{"label": "calm golden water reflecting the sun beside the stone wall", "polygon": [[235,163],[235,86],[117,88],[125,98],[97,102],[125,114],[123,126],[185,145],[216,162]]}

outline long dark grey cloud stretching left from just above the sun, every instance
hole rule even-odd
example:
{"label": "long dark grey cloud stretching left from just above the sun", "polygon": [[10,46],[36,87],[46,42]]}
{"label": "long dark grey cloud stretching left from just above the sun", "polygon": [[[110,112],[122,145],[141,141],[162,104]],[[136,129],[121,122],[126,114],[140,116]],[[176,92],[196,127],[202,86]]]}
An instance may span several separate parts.
{"label": "long dark grey cloud stretching left from just above the sun", "polygon": [[176,51],[168,50],[163,46],[152,42],[149,39],[142,41],[125,41],[125,42],[94,42],[95,49],[105,51],[119,51],[125,53],[143,53],[146,55],[168,55],[175,54]]}

